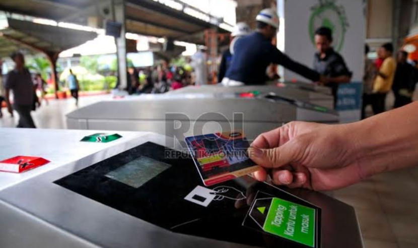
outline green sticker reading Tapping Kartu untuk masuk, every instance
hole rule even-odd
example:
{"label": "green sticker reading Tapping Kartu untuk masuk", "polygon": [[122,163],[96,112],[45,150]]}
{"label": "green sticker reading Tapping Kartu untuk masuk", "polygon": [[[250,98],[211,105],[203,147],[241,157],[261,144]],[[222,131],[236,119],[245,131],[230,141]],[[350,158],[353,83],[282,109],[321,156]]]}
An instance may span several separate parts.
{"label": "green sticker reading Tapping Kartu untuk masuk", "polygon": [[315,247],[315,209],[272,198],[263,230]]}

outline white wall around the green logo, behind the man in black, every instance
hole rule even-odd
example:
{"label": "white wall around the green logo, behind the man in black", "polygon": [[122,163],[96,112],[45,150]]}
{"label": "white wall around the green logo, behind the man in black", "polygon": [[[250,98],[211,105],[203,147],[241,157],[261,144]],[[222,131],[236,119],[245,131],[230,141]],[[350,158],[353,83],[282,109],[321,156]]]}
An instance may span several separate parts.
{"label": "white wall around the green logo, behind the man in black", "polygon": [[[322,4],[332,3],[341,7],[345,12],[347,23],[343,45],[340,54],[344,57],[347,66],[354,73],[353,81],[361,82],[363,78],[363,53],[365,42],[365,16],[363,0],[278,0],[278,12],[284,14],[284,32],[279,33],[278,41],[284,40],[278,44],[278,47],[285,47],[285,53],[291,58],[312,68],[313,58],[316,51],[311,42],[309,34],[309,23],[313,13],[313,8]],[[283,13],[284,10],[284,13]],[[338,20],[339,15],[336,12],[331,13],[331,19]],[[335,13],[335,14],[332,14]],[[334,22],[334,21],[332,21]],[[337,22],[338,23],[338,22]],[[334,24],[335,25],[335,24]],[[336,24],[338,26],[338,24]],[[338,30],[341,30],[338,28]],[[337,38],[337,37],[336,37]],[[335,43],[335,42],[334,42]],[[334,44],[337,47],[337,44]],[[308,81],[303,77],[285,70],[285,80],[298,79]]]}

